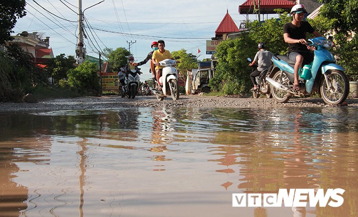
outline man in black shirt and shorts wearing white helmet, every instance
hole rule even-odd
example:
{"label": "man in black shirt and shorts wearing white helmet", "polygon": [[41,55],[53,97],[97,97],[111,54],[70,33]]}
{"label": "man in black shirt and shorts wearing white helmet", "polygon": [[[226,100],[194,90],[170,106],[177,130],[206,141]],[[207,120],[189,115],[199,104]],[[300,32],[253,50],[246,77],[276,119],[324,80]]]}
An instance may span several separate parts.
{"label": "man in black shirt and shorts wearing white helmet", "polygon": [[306,13],[307,11],[303,5],[295,5],[291,9],[292,22],[286,23],[283,26],[283,38],[289,46],[288,58],[295,62],[294,90],[297,91],[300,90],[298,70],[302,67],[303,62],[309,64],[314,58],[314,54],[310,52],[314,48],[307,46],[306,33],[312,33],[315,37],[321,36],[307,21],[302,21]]}

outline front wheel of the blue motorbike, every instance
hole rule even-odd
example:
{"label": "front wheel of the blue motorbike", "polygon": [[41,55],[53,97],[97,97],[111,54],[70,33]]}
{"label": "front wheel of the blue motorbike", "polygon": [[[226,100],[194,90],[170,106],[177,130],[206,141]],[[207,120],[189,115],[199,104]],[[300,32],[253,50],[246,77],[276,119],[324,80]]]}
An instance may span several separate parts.
{"label": "front wheel of the blue motorbike", "polygon": [[[349,82],[346,74],[340,70],[332,70],[327,74],[327,79],[322,79],[320,84],[321,97],[328,105],[343,103],[349,93]],[[328,85],[327,85],[328,84]]]}

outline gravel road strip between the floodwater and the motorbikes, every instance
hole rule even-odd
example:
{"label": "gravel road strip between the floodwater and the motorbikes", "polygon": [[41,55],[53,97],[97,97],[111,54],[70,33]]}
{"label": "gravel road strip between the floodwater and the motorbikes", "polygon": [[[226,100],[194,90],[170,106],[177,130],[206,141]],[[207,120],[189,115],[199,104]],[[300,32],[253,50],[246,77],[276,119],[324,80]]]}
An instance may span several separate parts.
{"label": "gravel road strip between the floodwater and the motorbikes", "polygon": [[[347,99],[344,105],[358,107],[358,98]],[[342,106],[342,105],[339,105]],[[136,96],[135,99],[121,98],[117,95],[103,97],[81,97],[65,99],[44,99],[38,103],[0,103],[0,112],[59,111],[81,109],[115,109],[121,107],[228,107],[228,108],[271,108],[271,107],[332,107],[320,98],[290,99],[287,103],[277,103],[266,98],[209,97],[181,95],[173,101],[170,97],[158,102],[154,96]]]}

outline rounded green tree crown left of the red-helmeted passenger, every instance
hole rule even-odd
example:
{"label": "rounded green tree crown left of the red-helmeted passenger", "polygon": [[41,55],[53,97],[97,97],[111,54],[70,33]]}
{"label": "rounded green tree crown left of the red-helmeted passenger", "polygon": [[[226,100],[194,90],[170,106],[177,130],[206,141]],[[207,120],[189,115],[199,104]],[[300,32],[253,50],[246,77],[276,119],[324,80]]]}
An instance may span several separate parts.
{"label": "rounded green tree crown left of the red-helmeted passenger", "polygon": [[115,51],[113,49],[105,48],[103,52],[103,55],[108,59],[109,65],[113,71],[119,71],[120,67],[126,65],[130,56],[129,51],[124,47],[118,47]]}

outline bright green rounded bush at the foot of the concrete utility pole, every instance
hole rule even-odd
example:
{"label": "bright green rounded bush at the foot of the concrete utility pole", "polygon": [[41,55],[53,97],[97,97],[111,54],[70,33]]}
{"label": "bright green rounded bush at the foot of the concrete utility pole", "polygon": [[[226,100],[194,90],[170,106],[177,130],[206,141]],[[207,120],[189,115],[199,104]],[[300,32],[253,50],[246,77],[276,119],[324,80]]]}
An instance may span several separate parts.
{"label": "bright green rounded bush at the foot of the concrete utility pole", "polygon": [[75,69],[68,71],[69,85],[82,94],[100,95],[100,83],[96,63],[83,62]]}

